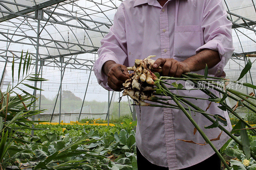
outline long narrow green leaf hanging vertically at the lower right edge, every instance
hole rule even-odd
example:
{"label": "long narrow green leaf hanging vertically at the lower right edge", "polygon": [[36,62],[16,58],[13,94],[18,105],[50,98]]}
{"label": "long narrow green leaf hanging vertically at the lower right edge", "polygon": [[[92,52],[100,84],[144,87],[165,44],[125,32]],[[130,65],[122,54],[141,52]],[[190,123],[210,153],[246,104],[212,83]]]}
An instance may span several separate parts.
{"label": "long narrow green leaf hanging vertically at the lower right edge", "polygon": [[240,130],[240,136],[242,140],[242,145],[243,145],[243,151],[245,153],[245,156],[247,159],[251,158],[251,150],[250,150],[250,139],[248,137],[247,131],[245,128],[244,122],[241,122],[241,129]]}

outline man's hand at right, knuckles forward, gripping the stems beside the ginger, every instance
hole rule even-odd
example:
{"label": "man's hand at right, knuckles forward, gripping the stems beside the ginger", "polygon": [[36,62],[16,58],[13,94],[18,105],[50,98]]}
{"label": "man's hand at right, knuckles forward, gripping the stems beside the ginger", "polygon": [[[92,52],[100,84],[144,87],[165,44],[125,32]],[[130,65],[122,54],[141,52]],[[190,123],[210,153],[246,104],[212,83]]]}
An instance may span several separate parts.
{"label": "man's hand at right, knuckles forward, gripping the stems beside the ginger", "polygon": [[176,77],[179,78],[182,73],[190,72],[188,64],[185,62],[179,62],[170,58],[158,58],[153,67],[158,68],[161,66],[163,68],[163,76]]}

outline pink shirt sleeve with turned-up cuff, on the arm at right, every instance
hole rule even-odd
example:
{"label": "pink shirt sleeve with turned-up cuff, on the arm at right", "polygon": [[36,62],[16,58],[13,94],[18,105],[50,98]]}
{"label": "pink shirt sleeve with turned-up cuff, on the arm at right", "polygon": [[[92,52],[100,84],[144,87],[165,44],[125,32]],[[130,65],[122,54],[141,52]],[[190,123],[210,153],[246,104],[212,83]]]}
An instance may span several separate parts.
{"label": "pink shirt sleeve with turned-up cuff, on the arm at right", "polygon": [[227,15],[221,0],[206,0],[202,21],[205,44],[196,49],[196,54],[205,48],[219,52],[221,61],[208,70],[216,77],[226,76],[223,69],[234,51],[232,23]]}

